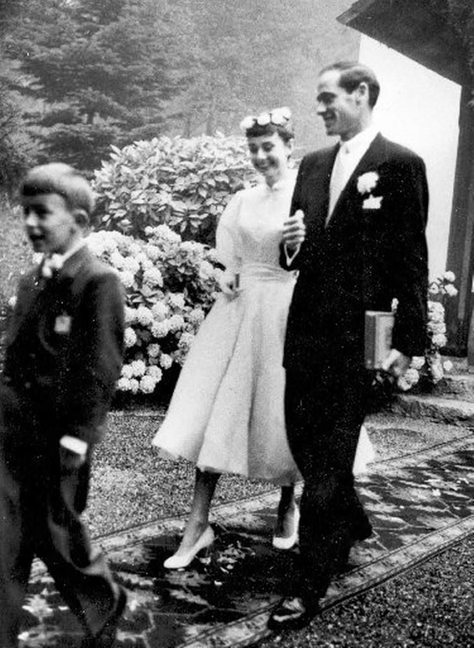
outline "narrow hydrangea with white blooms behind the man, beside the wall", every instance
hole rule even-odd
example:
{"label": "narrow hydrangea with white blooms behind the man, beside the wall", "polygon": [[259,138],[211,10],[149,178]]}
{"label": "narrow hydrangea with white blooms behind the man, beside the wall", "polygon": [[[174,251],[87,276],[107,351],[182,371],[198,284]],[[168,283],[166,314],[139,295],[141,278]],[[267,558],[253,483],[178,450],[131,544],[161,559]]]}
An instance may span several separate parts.
{"label": "narrow hydrangea with white blooms behind the man, beside the wall", "polygon": [[425,355],[412,359],[409,369],[399,378],[398,386],[403,391],[411,389],[420,380],[436,384],[445,371],[451,371],[451,360],[443,360],[440,349],[446,346],[446,324],[444,323],[444,302],[457,295],[453,282],[455,274],[447,271],[438,275],[429,285],[428,322]]}

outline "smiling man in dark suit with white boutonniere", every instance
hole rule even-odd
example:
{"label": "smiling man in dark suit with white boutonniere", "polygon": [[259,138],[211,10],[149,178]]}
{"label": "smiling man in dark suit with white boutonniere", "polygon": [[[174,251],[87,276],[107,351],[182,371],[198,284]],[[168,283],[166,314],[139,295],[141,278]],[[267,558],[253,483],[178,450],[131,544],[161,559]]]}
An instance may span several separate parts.
{"label": "smiling man in dark suit with white boutonniere", "polygon": [[284,228],[282,265],[299,270],[284,355],[286,424],[304,491],[301,564],[269,619],[277,630],[308,623],[352,544],[371,533],[352,475],[370,384],[365,311],[390,311],[398,300],[384,365],[392,375],[425,349],[425,165],[372,126],[378,94],[365,65],[322,70],[317,111],[341,141],[302,160]]}

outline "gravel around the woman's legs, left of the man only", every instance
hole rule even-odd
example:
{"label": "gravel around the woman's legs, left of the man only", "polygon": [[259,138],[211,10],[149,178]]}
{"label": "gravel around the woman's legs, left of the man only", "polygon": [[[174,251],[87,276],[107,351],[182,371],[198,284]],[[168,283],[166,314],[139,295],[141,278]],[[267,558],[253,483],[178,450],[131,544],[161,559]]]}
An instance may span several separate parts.
{"label": "gravel around the woman's legs, left of the man only", "polygon": [[[188,512],[194,467],[187,461],[162,459],[152,447],[162,420],[163,410],[155,415],[111,414],[106,438],[95,450],[84,515],[93,537]],[[213,503],[240,500],[274,488],[271,483],[223,475]]]}

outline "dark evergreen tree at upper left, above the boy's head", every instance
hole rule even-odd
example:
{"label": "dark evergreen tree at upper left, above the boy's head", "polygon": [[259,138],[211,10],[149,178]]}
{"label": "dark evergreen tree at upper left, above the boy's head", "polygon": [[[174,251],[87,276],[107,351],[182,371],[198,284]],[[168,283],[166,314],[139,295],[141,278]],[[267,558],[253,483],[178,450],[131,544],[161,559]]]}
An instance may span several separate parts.
{"label": "dark evergreen tree at upper left, above the boy's head", "polygon": [[[35,82],[43,110],[30,115],[44,153],[83,169],[109,145],[159,133],[166,73],[167,6],[159,0],[31,0],[7,40]],[[161,37],[163,36],[163,37]]]}

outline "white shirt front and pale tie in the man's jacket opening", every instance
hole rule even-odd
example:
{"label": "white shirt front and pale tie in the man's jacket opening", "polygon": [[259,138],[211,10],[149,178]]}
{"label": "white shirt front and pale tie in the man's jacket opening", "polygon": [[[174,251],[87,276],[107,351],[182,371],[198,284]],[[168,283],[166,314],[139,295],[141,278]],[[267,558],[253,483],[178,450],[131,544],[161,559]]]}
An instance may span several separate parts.
{"label": "white shirt front and pale tie in the man's jacket opening", "polygon": [[326,224],[332,216],[337,199],[346,186],[348,179],[356,170],[357,165],[363,156],[365,156],[369,146],[377,135],[378,129],[375,126],[368,126],[365,130],[354,135],[352,139],[348,139],[346,142],[341,142],[341,146],[337,152],[332,167],[329,185],[329,209]]}

